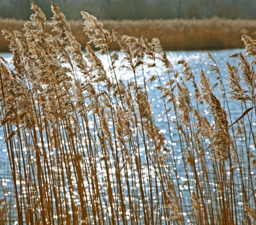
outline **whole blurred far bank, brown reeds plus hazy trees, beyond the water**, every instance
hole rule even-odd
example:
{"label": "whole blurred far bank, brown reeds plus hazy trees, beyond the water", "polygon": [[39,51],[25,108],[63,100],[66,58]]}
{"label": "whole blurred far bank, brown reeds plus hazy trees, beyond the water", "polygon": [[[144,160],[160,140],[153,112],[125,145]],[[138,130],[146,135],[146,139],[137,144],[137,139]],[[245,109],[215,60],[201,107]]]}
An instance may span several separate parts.
{"label": "whole blurred far bank, brown reeds plus hazy trees, beyond the water", "polygon": [[[88,38],[83,33],[81,10],[98,20],[108,31],[158,37],[166,50],[242,48],[242,34],[256,39],[256,0],[34,0],[47,20],[53,17],[53,1],[69,20],[72,34],[82,49]],[[33,11],[30,0],[0,0],[0,31],[23,31]],[[52,28],[46,23],[46,31]],[[111,43],[111,49],[118,49]],[[0,33],[0,52],[8,52],[8,40]]]}

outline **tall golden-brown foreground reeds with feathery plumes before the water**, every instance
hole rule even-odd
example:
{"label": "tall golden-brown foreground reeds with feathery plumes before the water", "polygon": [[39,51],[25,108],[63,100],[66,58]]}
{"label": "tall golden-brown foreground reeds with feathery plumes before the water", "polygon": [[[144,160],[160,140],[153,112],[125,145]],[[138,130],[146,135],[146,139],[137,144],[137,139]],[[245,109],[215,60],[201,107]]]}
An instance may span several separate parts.
{"label": "tall golden-brown foreground reeds with feathery plumes before the water", "polygon": [[[82,12],[84,34],[99,49],[87,45],[84,55],[56,5],[51,34],[33,2],[32,10],[23,33],[3,31],[13,52],[11,65],[0,64],[13,187],[1,179],[1,224],[255,223],[255,40],[242,36],[247,54],[227,64],[228,86],[210,53],[218,83],[201,71],[199,85],[184,60],[181,73],[173,70],[157,38],[109,32]],[[113,41],[120,54],[110,51]],[[151,109],[151,84],[162,95],[165,134]]]}

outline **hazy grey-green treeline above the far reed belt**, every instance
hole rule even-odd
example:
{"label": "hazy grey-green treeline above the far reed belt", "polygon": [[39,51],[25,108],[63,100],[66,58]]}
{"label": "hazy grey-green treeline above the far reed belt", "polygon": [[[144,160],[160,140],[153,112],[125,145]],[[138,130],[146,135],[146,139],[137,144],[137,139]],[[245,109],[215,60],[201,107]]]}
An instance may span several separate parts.
{"label": "hazy grey-green treeline above the far reed belt", "polygon": [[[50,20],[50,2],[67,20],[81,20],[81,10],[99,20],[256,19],[256,0],[35,0]],[[28,20],[30,0],[1,0],[0,17]]]}

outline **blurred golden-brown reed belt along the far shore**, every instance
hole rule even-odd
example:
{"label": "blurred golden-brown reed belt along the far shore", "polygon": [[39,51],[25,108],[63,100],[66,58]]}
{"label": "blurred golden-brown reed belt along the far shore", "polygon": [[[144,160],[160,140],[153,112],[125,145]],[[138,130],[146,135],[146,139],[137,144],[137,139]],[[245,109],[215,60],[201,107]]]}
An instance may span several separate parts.
{"label": "blurred golden-brown reed belt along the far shore", "polygon": [[[23,20],[1,19],[0,29],[22,31]],[[83,20],[71,20],[72,33],[81,43],[87,44],[83,33]],[[256,20],[103,20],[104,27],[119,34],[146,37],[149,41],[158,37],[166,50],[211,50],[242,48],[242,34],[256,38]],[[50,32],[50,28],[47,27]],[[111,49],[117,49],[112,44]],[[8,41],[0,35],[0,52],[8,52]]]}

